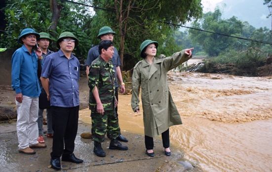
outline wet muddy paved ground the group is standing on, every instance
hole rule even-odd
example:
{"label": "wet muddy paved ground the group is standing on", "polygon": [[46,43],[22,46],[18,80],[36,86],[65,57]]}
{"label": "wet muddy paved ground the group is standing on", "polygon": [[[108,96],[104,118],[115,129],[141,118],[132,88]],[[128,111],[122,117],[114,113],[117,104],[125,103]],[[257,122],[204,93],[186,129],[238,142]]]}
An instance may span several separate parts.
{"label": "wet muddy paved ground the group is standing on", "polygon": [[[46,127],[46,126],[45,126]],[[45,129],[44,127],[44,129]],[[102,147],[106,157],[98,157],[93,153],[93,142],[91,139],[82,139],[79,135],[88,132],[90,124],[79,122],[78,136],[76,138],[75,155],[83,159],[81,164],[62,162],[62,172],[202,172],[201,169],[193,167],[186,161],[183,152],[173,148],[173,154],[169,157],[164,155],[163,149],[156,146],[155,157],[151,158],[145,154],[144,136],[123,131],[129,147],[126,151],[109,149],[110,140],[105,139]],[[26,155],[18,153],[18,141],[16,134],[16,123],[0,125],[0,171],[1,172],[53,172],[50,168],[50,152],[52,151],[52,139],[44,137],[46,148],[36,148],[36,154]],[[155,140],[155,145],[162,144]]]}

